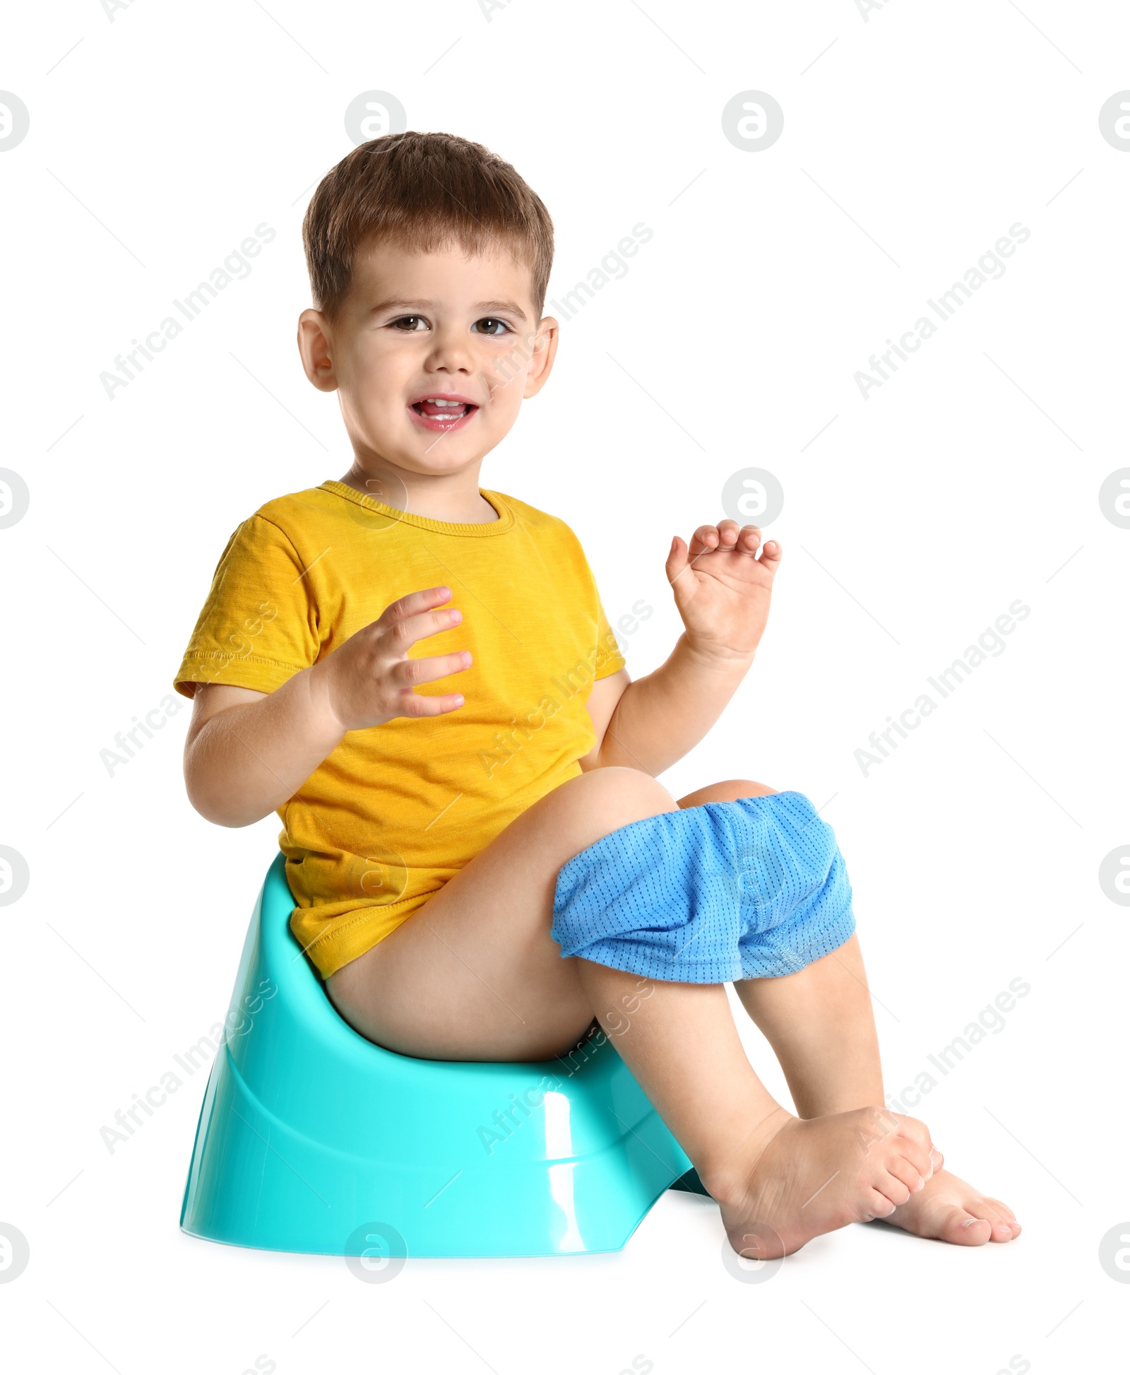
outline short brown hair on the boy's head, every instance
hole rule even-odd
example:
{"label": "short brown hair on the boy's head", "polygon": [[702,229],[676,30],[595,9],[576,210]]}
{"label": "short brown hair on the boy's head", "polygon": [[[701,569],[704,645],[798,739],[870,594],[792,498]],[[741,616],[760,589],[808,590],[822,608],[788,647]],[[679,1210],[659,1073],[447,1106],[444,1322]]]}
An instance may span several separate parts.
{"label": "short brown hair on the boy's head", "polygon": [[334,319],[353,258],[381,239],[422,253],[458,243],[485,254],[499,242],[531,270],[540,316],[553,265],[553,220],[496,153],[455,133],[386,133],[359,144],[319,182],[302,220],[315,308]]}

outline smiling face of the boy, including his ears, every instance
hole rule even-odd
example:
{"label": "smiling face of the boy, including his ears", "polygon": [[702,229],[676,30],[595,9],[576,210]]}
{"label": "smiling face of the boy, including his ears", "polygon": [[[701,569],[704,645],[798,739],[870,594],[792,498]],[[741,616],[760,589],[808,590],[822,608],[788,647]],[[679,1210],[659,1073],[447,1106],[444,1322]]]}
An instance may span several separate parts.
{"label": "smiling face of the boy, including his ears", "polygon": [[557,322],[535,319],[529,268],[505,248],[374,246],[333,324],[302,312],[298,348],[313,385],[338,392],[362,462],[451,473],[477,465],[544,385]]}

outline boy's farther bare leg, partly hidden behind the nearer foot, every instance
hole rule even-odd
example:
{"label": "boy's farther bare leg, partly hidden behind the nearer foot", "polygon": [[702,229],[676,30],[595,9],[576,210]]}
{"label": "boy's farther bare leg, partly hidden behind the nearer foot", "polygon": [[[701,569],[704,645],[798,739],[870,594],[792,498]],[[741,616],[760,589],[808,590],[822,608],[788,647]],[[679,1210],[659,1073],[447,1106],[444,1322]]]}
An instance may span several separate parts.
{"label": "boy's farther bare leg, partly hidden behind the nearer foot", "polygon": [[[764,784],[731,780],[701,788],[682,798],[679,806],[760,798],[773,791]],[[796,974],[742,979],[734,991],[781,1062],[801,1118],[884,1101],[872,996],[855,935]],[[921,1192],[916,1191],[884,1221],[965,1246],[1010,1242],[1020,1235],[1009,1207],[949,1170],[936,1170]]]}

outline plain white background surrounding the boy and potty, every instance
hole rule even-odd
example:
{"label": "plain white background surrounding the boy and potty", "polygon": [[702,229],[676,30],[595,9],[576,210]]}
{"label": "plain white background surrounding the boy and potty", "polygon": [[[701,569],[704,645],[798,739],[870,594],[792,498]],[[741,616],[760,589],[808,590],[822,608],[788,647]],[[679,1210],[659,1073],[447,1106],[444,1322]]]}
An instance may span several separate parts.
{"label": "plain white background surrounding the boy and potty", "polygon": [[[477,0],[8,11],[0,87],[32,122],[0,157],[0,463],[30,509],[0,531],[0,842],[32,877],[0,912],[0,1222],[30,1244],[0,1284],[7,1367],[239,1375],[267,1356],[280,1372],[616,1375],[641,1357],[660,1372],[993,1375],[1015,1356],[1037,1372],[1125,1360],[1130,1288],[1098,1246],[1130,1218],[1130,913],[1098,865],[1130,843],[1130,531],[1098,488],[1130,463],[1130,155],[1098,111],[1130,87],[1127,51],[1123,7],[1052,0],[891,0],[866,18],[855,0],[513,0],[489,19]],[[759,660],[664,781],[678,795],[753,777],[826,803],[888,1089],[1030,983],[917,1108],[947,1163],[1016,1209],[1017,1242],[851,1226],[744,1284],[716,1209],[667,1195],[619,1254],[410,1260],[366,1286],[341,1260],[180,1233],[202,1072],[103,1145],[114,1111],[224,1015],[279,825],[225,830],[191,810],[187,704],[113,777],[99,751],[169,693],[235,525],[349,466],[335,402],[294,346],[300,224],[370,89],[529,180],[555,220],[551,297],[653,228],[565,324],[549,388],[483,483],[573,525],[613,622],[638,598],[654,608],[627,644],[639,676],[679,630],[671,535],[719,518],[737,469],[778,476],[785,564]],[[723,136],[723,106],[748,89],[785,111],[771,148]],[[99,373],[263,221],[278,236],[250,276],[109,400]],[[1006,274],[865,400],[854,373],[1017,221],[1031,236]],[[1005,652],[865,776],[867,736],[1016,598],[1031,615]]]}

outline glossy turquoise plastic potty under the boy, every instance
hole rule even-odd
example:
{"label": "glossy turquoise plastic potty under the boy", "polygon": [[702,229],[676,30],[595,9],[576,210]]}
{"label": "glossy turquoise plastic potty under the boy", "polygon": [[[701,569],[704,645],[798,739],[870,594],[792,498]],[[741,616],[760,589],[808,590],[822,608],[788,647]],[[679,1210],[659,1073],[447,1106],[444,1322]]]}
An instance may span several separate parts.
{"label": "glossy turquoise plastic potty under the boy", "polygon": [[544,1063],[384,1050],[334,1009],[293,908],[279,854],[212,1064],[183,1231],[382,1264],[564,1255],[620,1250],[672,1185],[704,1192],[610,1041]]}

